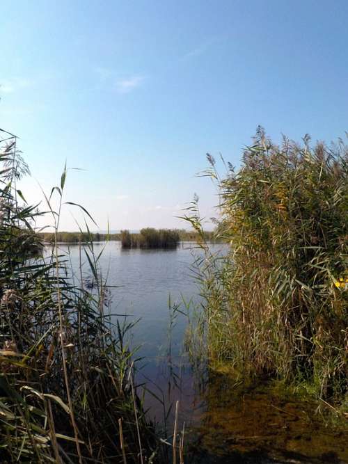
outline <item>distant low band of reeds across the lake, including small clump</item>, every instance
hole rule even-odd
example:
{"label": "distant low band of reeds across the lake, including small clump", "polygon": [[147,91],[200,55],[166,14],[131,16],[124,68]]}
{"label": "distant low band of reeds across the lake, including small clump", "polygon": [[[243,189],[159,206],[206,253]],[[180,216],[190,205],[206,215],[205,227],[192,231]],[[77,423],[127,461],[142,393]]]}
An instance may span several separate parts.
{"label": "distant low band of reeds across the lake, including small clump", "polygon": [[[43,241],[54,241],[54,233],[52,232],[41,232],[39,236]],[[198,241],[200,237],[193,230],[147,227],[139,233],[132,233],[129,230],[121,230],[110,234],[100,232],[90,232],[89,234],[87,232],[58,232],[57,239],[60,243],[117,240],[122,241],[123,248],[173,248],[180,241]],[[214,232],[205,232],[205,239],[215,241]]]}

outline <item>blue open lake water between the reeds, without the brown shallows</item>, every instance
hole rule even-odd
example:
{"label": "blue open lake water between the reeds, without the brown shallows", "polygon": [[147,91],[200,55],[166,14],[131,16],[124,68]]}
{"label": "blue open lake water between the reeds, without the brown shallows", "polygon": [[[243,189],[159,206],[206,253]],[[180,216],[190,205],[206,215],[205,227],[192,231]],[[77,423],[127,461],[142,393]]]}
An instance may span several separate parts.
{"label": "blue open lake water between the reeds, without the brown shallows", "polygon": [[[171,324],[171,313],[183,298],[198,301],[191,266],[202,256],[202,250],[191,242],[168,250],[122,250],[119,241],[97,242],[93,247],[95,255],[103,250],[99,265],[110,285],[109,310],[115,314],[111,321],[123,321],[125,317],[128,322],[140,319],[132,328],[130,339],[132,347],[139,347],[136,354],[143,358],[138,363],[141,367],[138,381],[147,381],[167,406],[180,399],[181,413],[191,421],[196,390],[187,359],[182,356],[187,318],[175,312]],[[213,253],[218,253],[221,247],[221,244],[210,245]],[[69,253],[72,269],[79,278],[79,246],[61,243],[59,248],[62,253]],[[91,272],[83,251],[81,259],[85,279]],[[152,418],[161,422],[164,417],[161,404],[151,395],[147,401]]]}

